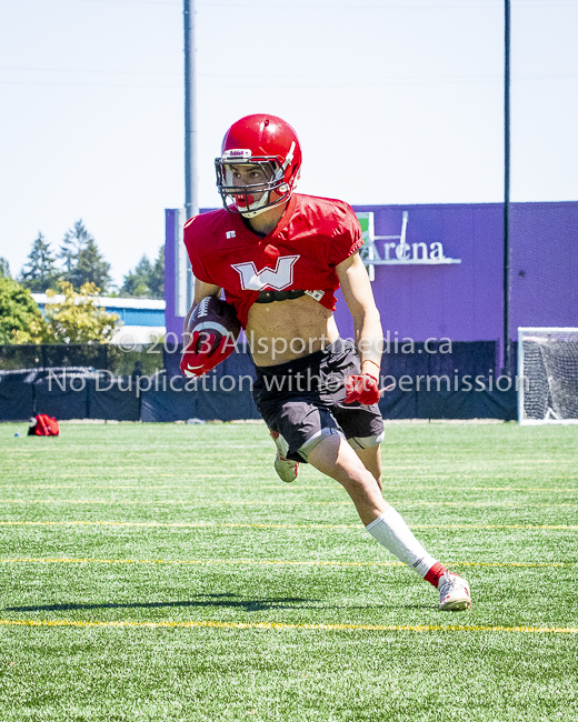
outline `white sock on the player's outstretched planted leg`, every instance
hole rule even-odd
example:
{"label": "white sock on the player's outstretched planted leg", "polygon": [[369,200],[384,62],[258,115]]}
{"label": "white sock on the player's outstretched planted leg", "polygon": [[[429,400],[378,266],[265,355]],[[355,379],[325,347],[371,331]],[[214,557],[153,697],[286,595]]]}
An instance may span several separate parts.
{"label": "white sock on the player's outstretched planted leg", "polygon": [[389,507],[366,529],[373,539],[377,539],[380,544],[389,549],[392,554],[420,576],[425,576],[437,561],[431,554],[427,553],[413,537],[413,533],[393,507]]}

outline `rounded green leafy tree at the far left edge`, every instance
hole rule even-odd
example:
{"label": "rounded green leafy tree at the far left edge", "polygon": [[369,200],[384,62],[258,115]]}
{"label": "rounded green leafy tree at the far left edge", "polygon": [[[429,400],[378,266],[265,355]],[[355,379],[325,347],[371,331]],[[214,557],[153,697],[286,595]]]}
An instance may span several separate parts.
{"label": "rounded green leafy tree at the far left edge", "polygon": [[47,332],[30,291],[10,278],[0,278],[0,343],[41,343]]}

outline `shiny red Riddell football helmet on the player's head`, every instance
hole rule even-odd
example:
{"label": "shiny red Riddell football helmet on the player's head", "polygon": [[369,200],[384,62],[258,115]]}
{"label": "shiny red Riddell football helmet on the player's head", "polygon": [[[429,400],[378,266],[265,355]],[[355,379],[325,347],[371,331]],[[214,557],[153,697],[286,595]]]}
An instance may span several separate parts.
{"label": "shiny red Riddell football helmet on the player's head", "polygon": [[252,218],[287,201],[301,168],[301,146],[285,120],[259,113],[233,123],[215,159],[225,208]]}

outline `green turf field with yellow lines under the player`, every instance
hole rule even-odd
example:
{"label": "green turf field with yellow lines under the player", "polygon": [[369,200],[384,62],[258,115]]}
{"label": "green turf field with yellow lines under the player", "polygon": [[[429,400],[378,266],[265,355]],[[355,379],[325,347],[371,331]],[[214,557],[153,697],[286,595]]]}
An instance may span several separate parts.
{"label": "green turf field with yellow lines under the player", "polygon": [[0,424],[0,720],[578,720],[578,428],[387,427],[438,595],[262,424]]}

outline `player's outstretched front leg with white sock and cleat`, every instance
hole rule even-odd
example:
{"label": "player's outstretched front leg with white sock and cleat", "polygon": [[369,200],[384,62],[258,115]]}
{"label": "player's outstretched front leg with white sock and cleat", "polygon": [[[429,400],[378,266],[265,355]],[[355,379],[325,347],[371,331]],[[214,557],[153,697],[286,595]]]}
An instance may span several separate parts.
{"label": "player's outstretched front leg with white sock and cleat", "polygon": [[399,513],[386,502],[373,474],[340,434],[322,439],[306,460],[346,489],[367,531],[380,544],[439,591],[440,609],[458,611],[471,606],[467,581],[449,572],[423,549]]}

